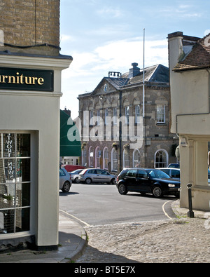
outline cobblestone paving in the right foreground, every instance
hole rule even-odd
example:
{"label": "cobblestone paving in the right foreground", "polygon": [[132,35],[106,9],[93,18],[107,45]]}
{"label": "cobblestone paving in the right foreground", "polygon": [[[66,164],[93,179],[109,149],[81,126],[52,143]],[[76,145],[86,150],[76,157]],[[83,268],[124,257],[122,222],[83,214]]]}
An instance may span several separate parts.
{"label": "cobblestone paving in the right foreground", "polygon": [[181,218],[85,227],[88,245],[76,263],[210,262],[209,221]]}

